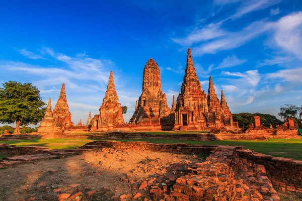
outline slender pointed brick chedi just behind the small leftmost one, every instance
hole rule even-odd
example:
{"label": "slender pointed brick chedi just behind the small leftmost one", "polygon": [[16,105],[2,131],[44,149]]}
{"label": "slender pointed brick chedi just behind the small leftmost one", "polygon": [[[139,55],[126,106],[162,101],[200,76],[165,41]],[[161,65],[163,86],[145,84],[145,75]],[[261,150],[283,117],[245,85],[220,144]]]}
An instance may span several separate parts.
{"label": "slender pointed brick chedi just behind the small leftmost one", "polygon": [[53,110],[53,119],[55,124],[61,128],[64,126],[66,129],[73,126],[73,123],[71,122],[71,113],[69,112],[67,104],[64,83],[62,84],[59,99]]}

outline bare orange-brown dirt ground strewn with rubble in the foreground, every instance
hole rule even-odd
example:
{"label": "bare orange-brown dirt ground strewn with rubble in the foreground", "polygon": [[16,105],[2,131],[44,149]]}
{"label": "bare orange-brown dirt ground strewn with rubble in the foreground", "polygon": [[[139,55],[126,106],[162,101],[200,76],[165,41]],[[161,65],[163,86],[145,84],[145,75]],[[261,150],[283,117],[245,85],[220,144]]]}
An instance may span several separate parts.
{"label": "bare orange-brown dirt ground strewn with rubble in the foreground", "polygon": [[[206,156],[103,150],[0,169],[0,200],[148,200]],[[78,199],[79,200],[79,199]]]}

